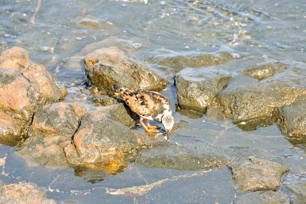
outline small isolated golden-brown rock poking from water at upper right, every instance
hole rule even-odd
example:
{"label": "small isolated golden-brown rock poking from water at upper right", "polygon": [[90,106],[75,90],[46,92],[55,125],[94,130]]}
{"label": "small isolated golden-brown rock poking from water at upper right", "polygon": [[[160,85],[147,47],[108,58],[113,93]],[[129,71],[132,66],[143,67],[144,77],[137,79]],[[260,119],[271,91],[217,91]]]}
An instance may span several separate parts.
{"label": "small isolated golden-brown rock poking from water at upper right", "polygon": [[268,77],[272,77],[274,73],[286,69],[287,66],[287,64],[284,64],[282,62],[269,60],[256,64],[254,66],[247,67],[245,70],[242,71],[242,73],[258,80],[264,80]]}

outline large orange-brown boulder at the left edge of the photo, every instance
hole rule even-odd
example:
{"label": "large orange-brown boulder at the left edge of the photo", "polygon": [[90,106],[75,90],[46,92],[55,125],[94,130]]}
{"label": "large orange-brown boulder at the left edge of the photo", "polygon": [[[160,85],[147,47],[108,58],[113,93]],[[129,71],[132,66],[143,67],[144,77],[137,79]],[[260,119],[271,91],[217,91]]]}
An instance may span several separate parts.
{"label": "large orange-brown boulder at the left edge of the photo", "polygon": [[2,142],[14,145],[27,137],[37,107],[62,99],[52,76],[32,63],[28,53],[13,47],[0,56],[0,129]]}

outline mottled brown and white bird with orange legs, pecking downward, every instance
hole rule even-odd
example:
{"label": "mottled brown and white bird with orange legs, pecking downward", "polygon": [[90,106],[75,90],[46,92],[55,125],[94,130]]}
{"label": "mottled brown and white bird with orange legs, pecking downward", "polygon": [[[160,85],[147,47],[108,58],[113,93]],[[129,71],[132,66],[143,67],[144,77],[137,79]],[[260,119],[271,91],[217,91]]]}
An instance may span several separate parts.
{"label": "mottled brown and white bird with orange legs, pecking downward", "polygon": [[[116,84],[113,85],[113,88],[123,98],[125,104],[140,116],[139,122],[146,132],[159,133],[155,129],[160,128],[159,126],[150,125],[148,120],[161,122],[167,133],[165,140],[169,142],[169,134],[173,127],[174,119],[170,102],[165,96],[155,91],[129,90]],[[147,126],[144,125],[143,119],[145,119]]]}

